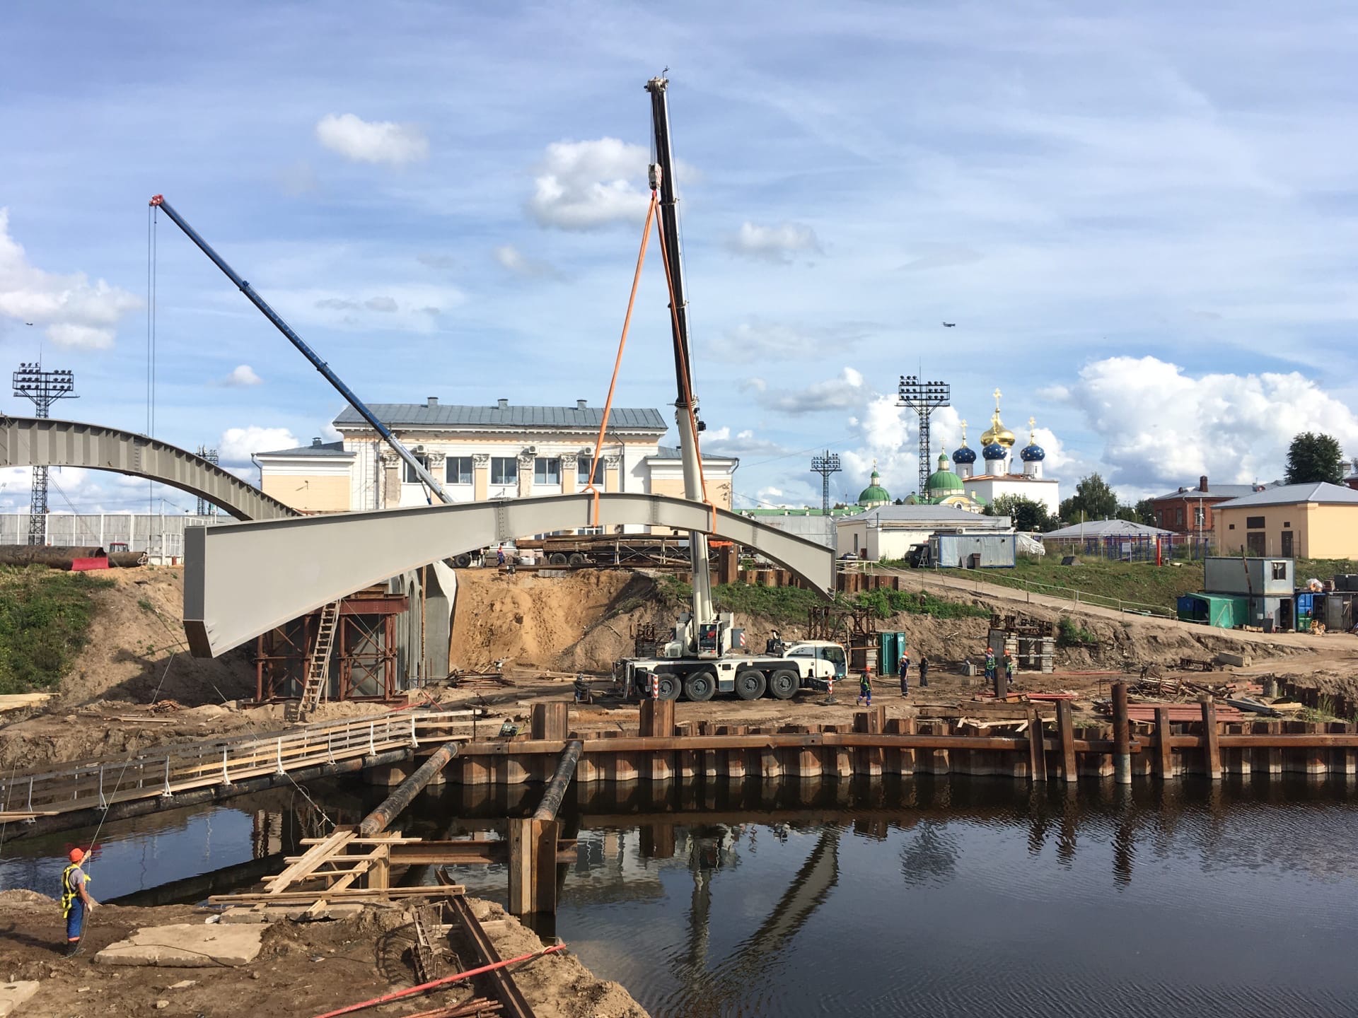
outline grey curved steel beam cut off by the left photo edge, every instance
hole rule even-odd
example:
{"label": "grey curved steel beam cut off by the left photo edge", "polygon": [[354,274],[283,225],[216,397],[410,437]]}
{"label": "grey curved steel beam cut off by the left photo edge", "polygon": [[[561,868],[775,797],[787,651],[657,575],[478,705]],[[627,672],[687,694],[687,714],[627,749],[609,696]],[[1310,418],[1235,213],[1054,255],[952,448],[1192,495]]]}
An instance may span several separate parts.
{"label": "grey curved steel beam cut off by the left photo edge", "polygon": [[297,516],[278,499],[191,452],[103,425],[0,417],[0,467],[111,470],[189,491],[238,520]]}

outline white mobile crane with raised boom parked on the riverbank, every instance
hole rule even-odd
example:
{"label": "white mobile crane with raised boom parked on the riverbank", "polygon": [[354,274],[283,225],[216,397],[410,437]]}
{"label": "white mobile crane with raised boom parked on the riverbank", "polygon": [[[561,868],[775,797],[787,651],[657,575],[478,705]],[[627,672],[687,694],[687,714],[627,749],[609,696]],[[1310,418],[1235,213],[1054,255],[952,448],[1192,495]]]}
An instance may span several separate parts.
{"label": "white mobile crane with raised boom parked on the riverbank", "polygon": [[[650,124],[656,163],[650,186],[659,189],[660,239],[669,280],[674,339],[675,423],[679,426],[679,456],[683,463],[684,498],[705,502],[702,457],[698,451],[698,399],[693,392],[693,358],[689,345],[689,308],[684,299],[683,254],[679,250],[679,213],[675,195],[674,153],[669,144],[669,103],[665,77],[646,81],[650,95]],[[614,673],[629,692],[661,699],[709,700],[718,692],[735,692],[741,699],[758,699],[765,692],[789,699],[799,690],[826,690],[846,675],[843,647],[828,641],[804,641],[784,647],[770,641],[765,656],[732,656],[732,646],[744,646],[744,633],[735,628],[735,615],[717,612],[712,601],[712,571],[708,562],[708,535],[689,533],[689,565],[693,576],[690,611],[679,616],[674,639],[653,658],[625,658]]]}

